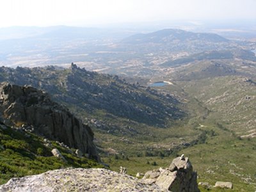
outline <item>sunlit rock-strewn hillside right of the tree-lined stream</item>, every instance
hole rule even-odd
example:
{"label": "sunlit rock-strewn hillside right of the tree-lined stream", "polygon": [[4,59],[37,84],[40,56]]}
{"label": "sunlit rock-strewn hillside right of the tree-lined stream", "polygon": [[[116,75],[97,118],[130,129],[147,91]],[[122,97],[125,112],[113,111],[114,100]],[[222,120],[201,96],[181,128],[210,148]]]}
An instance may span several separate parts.
{"label": "sunlit rock-strewn hillside right of the tree-lined stream", "polygon": [[[254,116],[256,86],[252,79],[224,76],[183,82],[184,90],[202,102],[209,111],[208,118],[226,129],[244,136],[255,132]],[[185,85],[186,84],[186,87]],[[200,90],[196,89],[200,86]]]}

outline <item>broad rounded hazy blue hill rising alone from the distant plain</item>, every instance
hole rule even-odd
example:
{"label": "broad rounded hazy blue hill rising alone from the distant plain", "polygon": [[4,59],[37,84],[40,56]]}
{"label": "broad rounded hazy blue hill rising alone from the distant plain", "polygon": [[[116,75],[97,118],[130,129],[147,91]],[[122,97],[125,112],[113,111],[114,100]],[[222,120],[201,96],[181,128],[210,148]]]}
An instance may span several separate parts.
{"label": "broad rounded hazy blue hill rising alone from the distant plain", "polygon": [[117,45],[124,51],[143,54],[166,52],[198,53],[228,49],[230,40],[214,33],[193,33],[181,29],[163,29],[153,33],[137,34],[124,38]]}

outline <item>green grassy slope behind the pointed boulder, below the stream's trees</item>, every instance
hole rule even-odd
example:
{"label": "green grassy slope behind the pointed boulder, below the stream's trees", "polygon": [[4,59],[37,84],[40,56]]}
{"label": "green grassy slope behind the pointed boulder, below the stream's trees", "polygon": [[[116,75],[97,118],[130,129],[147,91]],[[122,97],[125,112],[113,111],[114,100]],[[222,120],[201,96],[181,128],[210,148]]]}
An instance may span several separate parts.
{"label": "green grassy slope behind the pointed boulder, below the stream's trees", "polygon": [[[191,160],[194,170],[198,172],[198,182],[209,182],[214,186],[215,182],[230,181],[234,184],[232,191],[255,190],[255,161],[256,138],[239,139],[229,131],[220,129],[218,126],[198,127],[207,132],[204,143],[193,145],[179,150],[179,154],[170,156],[129,156],[129,160],[120,158],[120,154],[104,157],[103,161],[116,172],[120,166],[127,168],[127,173],[133,176],[136,173],[145,173],[159,167],[168,167],[172,159],[180,154],[185,154]],[[154,152],[153,152],[154,153]],[[155,163],[157,164],[154,166]],[[204,189],[201,191],[223,191],[223,189]],[[225,189],[224,191],[230,191]]]}

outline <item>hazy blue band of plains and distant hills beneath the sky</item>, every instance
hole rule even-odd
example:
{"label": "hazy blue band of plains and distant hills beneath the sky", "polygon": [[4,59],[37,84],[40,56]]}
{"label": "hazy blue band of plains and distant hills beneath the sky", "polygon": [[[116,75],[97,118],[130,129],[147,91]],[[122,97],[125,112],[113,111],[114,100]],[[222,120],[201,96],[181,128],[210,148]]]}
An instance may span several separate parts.
{"label": "hazy blue band of plains and distant hills beneath the sky", "polygon": [[87,70],[151,78],[160,75],[165,67],[193,60],[234,57],[234,50],[241,52],[239,58],[253,60],[248,51],[256,46],[253,42],[228,40],[214,33],[181,29],[135,33],[138,33],[135,29],[67,26],[3,28],[0,29],[0,62],[8,67],[68,67],[75,62]]}

